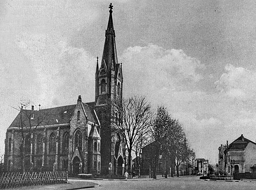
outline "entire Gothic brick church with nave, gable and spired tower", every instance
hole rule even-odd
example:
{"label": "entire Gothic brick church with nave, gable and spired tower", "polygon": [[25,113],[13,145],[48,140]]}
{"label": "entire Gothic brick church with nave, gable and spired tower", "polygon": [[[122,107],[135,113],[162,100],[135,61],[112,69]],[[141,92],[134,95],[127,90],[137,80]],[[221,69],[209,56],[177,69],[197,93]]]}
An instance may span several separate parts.
{"label": "entire Gothic brick church with nave, gable and spired tower", "polygon": [[[121,100],[118,63],[109,6],[102,61],[95,73],[95,101],[35,110],[23,106],[6,131],[5,171],[68,171],[69,174],[122,175],[125,143],[114,129],[121,118],[108,102]],[[86,63],[85,63],[86,64]],[[75,102],[74,102],[75,103]]]}

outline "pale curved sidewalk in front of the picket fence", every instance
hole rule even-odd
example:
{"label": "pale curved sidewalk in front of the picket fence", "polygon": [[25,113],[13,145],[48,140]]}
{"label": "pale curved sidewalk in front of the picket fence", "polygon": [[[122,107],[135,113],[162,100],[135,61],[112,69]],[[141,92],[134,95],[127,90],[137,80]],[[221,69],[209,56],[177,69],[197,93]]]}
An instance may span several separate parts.
{"label": "pale curved sidewalk in front of the picket fence", "polygon": [[12,189],[22,189],[22,190],[75,190],[75,189],[85,189],[85,188],[94,188],[99,187],[97,183],[92,183],[88,181],[70,181],[63,184],[53,184],[53,185],[34,185],[26,187],[16,187]]}

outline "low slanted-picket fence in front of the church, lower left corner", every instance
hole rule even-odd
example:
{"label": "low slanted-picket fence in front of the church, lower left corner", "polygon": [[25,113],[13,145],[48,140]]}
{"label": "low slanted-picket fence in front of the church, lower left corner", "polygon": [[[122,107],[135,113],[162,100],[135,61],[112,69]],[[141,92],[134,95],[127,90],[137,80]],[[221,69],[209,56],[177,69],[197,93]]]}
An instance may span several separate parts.
{"label": "low slanted-picket fence in front of the church, lower left corner", "polygon": [[68,183],[68,172],[6,172],[0,177],[0,189],[59,183]]}

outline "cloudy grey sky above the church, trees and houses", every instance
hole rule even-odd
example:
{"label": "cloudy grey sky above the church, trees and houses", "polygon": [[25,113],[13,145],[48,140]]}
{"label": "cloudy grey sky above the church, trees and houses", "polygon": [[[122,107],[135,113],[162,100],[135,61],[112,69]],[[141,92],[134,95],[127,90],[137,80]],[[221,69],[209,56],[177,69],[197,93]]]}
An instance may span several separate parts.
{"label": "cloudy grey sky above the church, trees and houses", "polygon": [[[109,3],[0,1],[0,153],[20,101],[38,108],[94,101]],[[116,0],[123,95],[179,119],[197,158],[256,140],[256,1]],[[13,108],[14,107],[14,108]]]}

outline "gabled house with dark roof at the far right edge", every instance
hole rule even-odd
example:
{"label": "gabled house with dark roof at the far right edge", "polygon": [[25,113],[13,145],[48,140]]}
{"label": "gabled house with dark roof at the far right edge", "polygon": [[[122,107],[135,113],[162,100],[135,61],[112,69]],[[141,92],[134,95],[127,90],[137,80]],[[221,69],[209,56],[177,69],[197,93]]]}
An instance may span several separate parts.
{"label": "gabled house with dark roof at the far right edge", "polygon": [[228,145],[226,173],[256,172],[256,143],[241,135]]}

